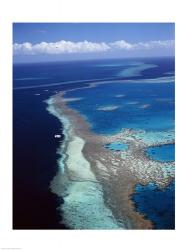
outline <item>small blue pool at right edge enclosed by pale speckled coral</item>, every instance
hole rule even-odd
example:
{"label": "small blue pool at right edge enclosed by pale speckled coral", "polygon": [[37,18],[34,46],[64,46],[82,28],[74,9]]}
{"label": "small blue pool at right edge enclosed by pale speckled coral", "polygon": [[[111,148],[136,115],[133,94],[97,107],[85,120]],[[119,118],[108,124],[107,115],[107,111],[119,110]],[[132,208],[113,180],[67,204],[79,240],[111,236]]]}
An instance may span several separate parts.
{"label": "small blue pool at right edge enclosed by pale speckled coral", "polygon": [[149,147],[147,155],[160,162],[174,161],[175,160],[175,144],[166,144],[162,146]]}

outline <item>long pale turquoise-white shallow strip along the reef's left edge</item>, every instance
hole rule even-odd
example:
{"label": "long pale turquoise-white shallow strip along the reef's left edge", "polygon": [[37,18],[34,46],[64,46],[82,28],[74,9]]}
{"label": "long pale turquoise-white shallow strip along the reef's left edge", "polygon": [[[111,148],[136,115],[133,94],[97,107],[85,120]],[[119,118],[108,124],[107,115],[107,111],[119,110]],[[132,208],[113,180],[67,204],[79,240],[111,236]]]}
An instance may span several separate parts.
{"label": "long pale turquoise-white shallow strip along the reef's left edge", "polygon": [[[90,163],[84,158],[84,140],[74,135],[67,117],[55,109],[53,98],[47,103],[47,110],[63,123],[65,135],[58,150],[61,154],[58,165],[62,183],[53,181],[51,187],[52,192],[64,200],[60,205],[62,223],[71,229],[123,229],[124,226],[116,221],[111,210],[106,207],[102,186],[91,171]],[[59,180],[57,176],[55,178]]]}

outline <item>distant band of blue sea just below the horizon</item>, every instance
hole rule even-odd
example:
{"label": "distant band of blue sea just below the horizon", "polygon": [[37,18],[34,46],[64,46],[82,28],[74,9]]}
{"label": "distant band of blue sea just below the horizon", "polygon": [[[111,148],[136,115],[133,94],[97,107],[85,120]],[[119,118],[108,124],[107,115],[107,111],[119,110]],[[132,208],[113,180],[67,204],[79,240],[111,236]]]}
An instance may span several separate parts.
{"label": "distant band of blue sea just below the horizon", "polygon": [[[28,63],[14,65],[14,87],[39,86],[71,81],[90,81],[93,79],[117,78],[120,71],[128,68],[132,62],[156,64],[159,67],[145,70],[141,77],[133,79],[156,78],[165,76],[165,72],[174,71],[174,58],[145,59],[105,59],[76,62]],[[102,66],[105,65],[105,66]],[[113,65],[113,66],[106,66]],[[119,65],[119,66],[115,66]],[[75,86],[75,85],[74,85]]]}

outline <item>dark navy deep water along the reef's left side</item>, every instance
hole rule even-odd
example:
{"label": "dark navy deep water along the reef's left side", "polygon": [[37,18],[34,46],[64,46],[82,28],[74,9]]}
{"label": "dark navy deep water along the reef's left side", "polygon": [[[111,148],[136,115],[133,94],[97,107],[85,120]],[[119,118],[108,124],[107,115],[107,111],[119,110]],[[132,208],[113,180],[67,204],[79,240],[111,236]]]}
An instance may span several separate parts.
{"label": "dark navy deep water along the reef's left side", "polygon": [[[13,228],[57,229],[57,196],[49,191],[57,171],[56,149],[61,124],[45,111],[47,94],[14,91]],[[47,126],[46,126],[47,122]]]}

